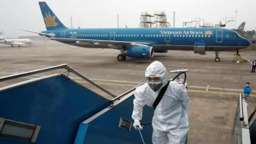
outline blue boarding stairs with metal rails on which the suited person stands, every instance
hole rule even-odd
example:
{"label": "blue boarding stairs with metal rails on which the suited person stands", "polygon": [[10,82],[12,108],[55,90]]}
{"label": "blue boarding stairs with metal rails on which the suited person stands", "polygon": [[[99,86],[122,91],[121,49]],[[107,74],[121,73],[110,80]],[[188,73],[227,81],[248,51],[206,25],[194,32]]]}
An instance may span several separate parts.
{"label": "blue boarding stairs with metal rails on which the suited person stands", "polygon": [[[143,141],[139,131],[132,127],[134,90],[140,85],[116,96],[66,64],[0,77],[0,82],[57,69],[67,71],[0,88],[0,143],[152,143],[151,124],[141,131]],[[75,82],[68,77],[69,72],[113,99],[106,99]],[[151,122],[153,113],[153,108],[145,106],[141,123]],[[252,118],[247,117],[242,95],[239,95],[235,115],[231,143],[255,143],[256,122],[249,129]]]}

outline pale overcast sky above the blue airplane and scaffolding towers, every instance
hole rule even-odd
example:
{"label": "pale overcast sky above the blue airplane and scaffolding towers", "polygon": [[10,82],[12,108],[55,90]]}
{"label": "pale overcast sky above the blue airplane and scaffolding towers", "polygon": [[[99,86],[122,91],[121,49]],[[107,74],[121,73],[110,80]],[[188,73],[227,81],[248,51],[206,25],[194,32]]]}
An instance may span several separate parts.
{"label": "pale overcast sky above the blue airplane and scaffolding towers", "polygon": [[[4,37],[18,37],[31,34],[19,29],[43,31],[44,20],[37,0],[1,0],[0,30]],[[70,17],[73,27],[77,28],[116,28],[117,14],[119,27],[137,28],[140,13],[148,11],[165,11],[167,21],[173,27],[173,11],[175,11],[175,27],[182,27],[183,21],[201,18],[205,22],[217,24],[225,17],[235,17],[236,28],[246,22],[245,30],[256,27],[255,0],[49,0],[46,3],[60,21],[70,28]],[[229,22],[226,28],[234,28],[235,22]]]}

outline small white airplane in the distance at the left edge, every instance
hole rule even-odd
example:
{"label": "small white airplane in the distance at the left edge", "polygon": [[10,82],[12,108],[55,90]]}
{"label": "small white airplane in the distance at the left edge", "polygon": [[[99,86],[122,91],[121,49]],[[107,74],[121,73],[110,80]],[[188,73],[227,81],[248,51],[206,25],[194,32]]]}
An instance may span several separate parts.
{"label": "small white airplane in the distance at the left edge", "polygon": [[[0,32],[0,36],[1,35],[4,35],[3,31]],[[30,44],[33,44],[34,41],[31,41],[30,39],[5,39],[5,38],[0,38],[0,43],[11,45],[11,47],[13,47],[13,45],[18,45],[20,47],[20,45],[30,46]]]}

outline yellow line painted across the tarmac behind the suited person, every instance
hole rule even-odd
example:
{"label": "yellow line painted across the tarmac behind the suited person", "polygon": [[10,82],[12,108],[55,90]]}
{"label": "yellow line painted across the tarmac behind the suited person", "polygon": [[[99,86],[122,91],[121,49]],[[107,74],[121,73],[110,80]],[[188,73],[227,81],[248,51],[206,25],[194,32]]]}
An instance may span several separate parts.
{"label": "yellow line painted across the tarmac behind the suited person", "polygon": [[[0,76],[7,76],[7,75],[0,75]],[[37,78],[37,77],[23,77],[23,78]],[[74,80],[74,79],[73,79]],[[78,81],[78,80],[74,80],[75,82],[78,83],[88,83],[86,81]],[[134,84],[121,84],[121,83],[106,83],[106,82],[94,82],[96,84],[107,84],[107,85],[119,85],[119,86],[137,86]],[[234,93],[234,92],[218,92],[218,91],[204,91],[204,90],[191,90],[188,89],[188,92],[204,92],[204,93],[218,93],[218,94],[234,94],[234,95],[238,95],[239,93]],[[250,94],[251,97],[256,97],[256,94]]]}

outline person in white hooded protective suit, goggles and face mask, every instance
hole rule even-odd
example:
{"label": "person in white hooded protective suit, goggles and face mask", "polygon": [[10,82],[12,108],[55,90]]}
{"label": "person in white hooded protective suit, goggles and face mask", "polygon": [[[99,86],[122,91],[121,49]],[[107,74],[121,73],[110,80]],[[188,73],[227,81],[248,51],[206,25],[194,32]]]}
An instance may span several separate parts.
{"label": "person in white hooded protective suit, goggles and face mask", "polygon": [[[159,61],[151,63],[145,73],[145,84],[137,87],[133,100],[133,127],[141,129],[140,120],[145,105],[152,107],[158,93],[167,84],[166,68]],[[152,119],[154,144],[186,143],[189,131],[189,99],[185,85],[171,81]]]}

